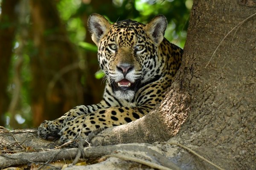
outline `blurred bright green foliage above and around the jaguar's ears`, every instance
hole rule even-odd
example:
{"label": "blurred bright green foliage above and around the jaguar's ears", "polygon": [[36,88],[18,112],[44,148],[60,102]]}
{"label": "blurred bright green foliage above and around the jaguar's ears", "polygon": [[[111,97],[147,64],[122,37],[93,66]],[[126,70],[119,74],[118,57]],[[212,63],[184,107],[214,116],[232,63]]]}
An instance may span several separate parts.
{"label": "blurred bright green foliage above and around the jaguar's ears", "polygon": [[192,0],[113,0],[113,4],[97,7],[92,3],[81,3],[80,0],[61,0],[58,3],[58,11],[74,43],[84,40],[86,22],[81,22],[84,15],[99,13],[112,23],[125,19],[147,23],[155,15],[163,14],[169,23],[165,37],[181,48],[186,40],[191,7]]}

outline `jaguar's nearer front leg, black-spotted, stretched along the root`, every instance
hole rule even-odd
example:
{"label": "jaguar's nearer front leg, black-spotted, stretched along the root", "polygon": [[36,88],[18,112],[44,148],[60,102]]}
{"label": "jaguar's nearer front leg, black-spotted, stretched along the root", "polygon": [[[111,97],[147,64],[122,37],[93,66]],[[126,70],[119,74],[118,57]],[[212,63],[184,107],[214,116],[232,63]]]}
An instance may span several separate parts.
{"label": "jaguar's nearer front leg, black-spotted, stretched along the root", "polygon": [[76,119],[67,122],[66,126],[61,130],[60,142],[69,142],[79,136],[86,138],[90,133],[126,124],[144,116],[149,110],[142,107],[110,107],[78,116]]}

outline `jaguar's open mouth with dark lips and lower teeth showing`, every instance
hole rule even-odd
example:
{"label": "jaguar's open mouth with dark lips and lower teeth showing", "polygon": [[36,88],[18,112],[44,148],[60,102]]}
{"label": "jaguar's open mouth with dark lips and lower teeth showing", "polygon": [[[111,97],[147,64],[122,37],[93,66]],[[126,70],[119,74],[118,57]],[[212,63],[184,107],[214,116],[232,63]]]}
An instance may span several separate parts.
{"label": "jaguar's open mouth with dark lips and lower teeth showing", "polygon": [[119,82],[112,82],[113,91],[137,91],[139,81],[130,82],[128,79],[121,79]]}

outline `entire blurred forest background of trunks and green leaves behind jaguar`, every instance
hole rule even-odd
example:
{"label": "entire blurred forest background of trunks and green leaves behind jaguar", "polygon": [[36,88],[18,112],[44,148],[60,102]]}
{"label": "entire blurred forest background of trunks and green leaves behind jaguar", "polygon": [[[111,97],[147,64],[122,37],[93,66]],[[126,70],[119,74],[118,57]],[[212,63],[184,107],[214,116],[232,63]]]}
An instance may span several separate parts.
{"label": "entire blurred forest background of trunks and green leaves behind jaguar", "polygon": [[183,48],[191,7],[192,0],[0,0],[0,126],[37,127],[101,100],[90,14],[112,23],[163,14],[165,37]]}

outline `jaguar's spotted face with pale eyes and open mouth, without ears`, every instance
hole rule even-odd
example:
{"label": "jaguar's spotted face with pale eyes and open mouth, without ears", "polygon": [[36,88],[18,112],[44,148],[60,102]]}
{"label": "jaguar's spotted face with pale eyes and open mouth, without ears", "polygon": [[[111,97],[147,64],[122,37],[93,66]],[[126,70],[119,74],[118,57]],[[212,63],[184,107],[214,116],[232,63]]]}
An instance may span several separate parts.
{"label": "jaguar's spotted face with pale eyes and open mouth, without ears", "polygon": [[[103,20],[102,17],[100,19]],[[88,23],[90,28],[90,19]],[[101,27],[99,21],[94,24],[94,29]],[[100,38],[92,36],[98,45],[100,68],[105,72],[116,98],[131,100],[140,85],[157,74],[157,47],[160,42],[156,43],[148,35],[148,25],[136,21],[105,24],[94,33],[102,34]]]}

